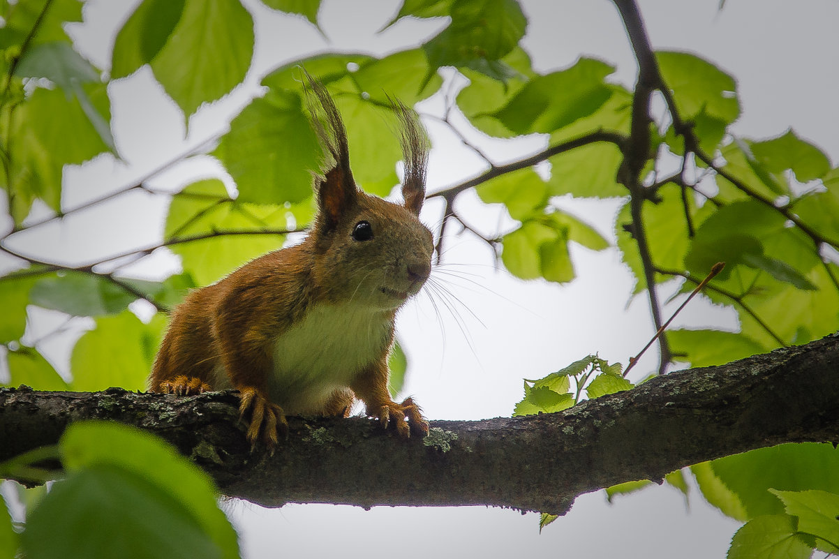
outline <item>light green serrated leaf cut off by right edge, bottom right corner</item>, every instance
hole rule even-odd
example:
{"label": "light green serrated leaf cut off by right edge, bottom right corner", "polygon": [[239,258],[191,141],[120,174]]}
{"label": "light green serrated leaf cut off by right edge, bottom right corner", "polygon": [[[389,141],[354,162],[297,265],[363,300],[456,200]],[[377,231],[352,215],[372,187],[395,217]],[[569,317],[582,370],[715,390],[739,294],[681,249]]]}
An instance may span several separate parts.
{"label": "light green serrated leaf cut off by right edge, bottom right corner", "polygon": [[839,495],[810,489],[809,491],[777,491],[771,493],[784,501],[788,515],[798,517],[798,531],[831,544],[839,544]]}

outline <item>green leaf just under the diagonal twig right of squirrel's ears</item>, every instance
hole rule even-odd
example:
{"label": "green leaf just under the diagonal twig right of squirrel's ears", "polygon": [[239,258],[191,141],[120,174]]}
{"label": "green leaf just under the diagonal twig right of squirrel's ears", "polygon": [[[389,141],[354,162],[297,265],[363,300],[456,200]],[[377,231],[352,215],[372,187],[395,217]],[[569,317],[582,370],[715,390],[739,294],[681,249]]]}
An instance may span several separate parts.
{"label": "green leaf just under the diagonal twig right of squirrel's ears", "polygon": [[487,204],[507,206],[510,217],[524,220],[548,202],[548,186],[532,167],[488,180],[475,189]]}

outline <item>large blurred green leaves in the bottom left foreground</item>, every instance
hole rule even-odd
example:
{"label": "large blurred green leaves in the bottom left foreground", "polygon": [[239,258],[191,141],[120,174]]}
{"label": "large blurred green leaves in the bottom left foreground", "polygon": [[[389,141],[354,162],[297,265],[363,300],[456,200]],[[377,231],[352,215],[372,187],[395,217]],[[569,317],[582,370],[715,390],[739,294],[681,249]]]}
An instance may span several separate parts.
{"label": "large blurred green leaves in the bottom left foreground", "polygon": [[[37,467],[46,459],[61,470]],[[149,468],[154,464],[154,468]],[[11,530],[0,515],[0,551],[27,557],[239,556],[236,531],[216,506],[218,490],[195,464],[159,437],[102,421],[73,424],[56,447],[0,463],[0,476],[42,483],[59,478],[46,493],[17,485],[29,501],[26,530]],[[37,493],[33,496],[32,493]],[[33,500],[33,497],[37,500]]]}

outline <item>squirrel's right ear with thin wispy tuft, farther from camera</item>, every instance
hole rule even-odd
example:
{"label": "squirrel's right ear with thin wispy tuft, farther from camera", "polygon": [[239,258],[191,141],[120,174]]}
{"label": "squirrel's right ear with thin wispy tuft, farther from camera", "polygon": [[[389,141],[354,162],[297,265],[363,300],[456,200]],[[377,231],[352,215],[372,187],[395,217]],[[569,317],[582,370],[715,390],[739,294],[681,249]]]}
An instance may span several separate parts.
{"label": "squirrel's right ear with thin wispy tuft, farther from camera", "polygon": [[430,143],[420,117],[414,109],[405,107],[402,102],[393,101],[393,111],[399,117],[405,177],[402,181],[402,196],[409,212],[420,215],[425,201],[425,171],[428,168]]}

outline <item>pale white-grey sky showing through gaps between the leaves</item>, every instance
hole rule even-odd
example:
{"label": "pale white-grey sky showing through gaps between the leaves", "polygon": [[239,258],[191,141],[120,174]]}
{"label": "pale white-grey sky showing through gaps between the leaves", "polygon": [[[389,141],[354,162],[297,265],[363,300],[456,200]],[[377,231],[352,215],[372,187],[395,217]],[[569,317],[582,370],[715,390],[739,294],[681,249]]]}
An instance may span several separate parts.
{"label": "pale white-grey sky showing through gaps between the leaves", "polygon": [[[304,19],[272,13],[253,0],[246,3],[257,14],[258,28],[255,71],[246,83],[192,118],[186,138],[183,118],[154,84],[148,69],[112,84],[112,126],[125,164],[102,157],[66,170],[66,207],[133,184],[174,155],[223,131],[229,118],[258,94],[261,76],[276,65],[316,50],[383,54],[417,44],[444,25],[440,20],[409,21],[375,34],[393,17],[398,2],[326,0],[319,18],[330,39],[326,43]],[[107,68],[112,35],[134,4],[88,3],[87,23],[74,34],[85,55],[100,67]],[[633,84],[632,53],[611,2],[524,0],[523,4],[529,16],[524,44],[536,69],[551,71],[581,55],[593,55],[618,66],[613,79]],[[839,35],[835,30],[839,3],[728,0],[718,12],[717,0],[649,0],[640,2],[640,8],[654,47],[694,51],[737,78],[743,108],[735,125],[737,133],[764,138],[792,125],[800,136],[821,146],[834,165],[839,161]],[[439,111],[439,102],[431,100],[420,109]],[[447,138],[440,126],[429,123],[429,128],[435,145],[444,146],[431,156],[430,191],[482,170],[481,161]],[[544,138],[492,141],[473,133],[469,138],[481,142],[482,149],[498,161],[532,153],[545,142]],[[175,165],[150,184],[176,190],[195,177],[218,172],[211,160],[199,158]],[[470,197],[460,208],[472,222],[491,233],[508,229],[511,222],[502,212],[482,208]],[[49,258],[87,260],[159,241],[164,199],[140,193],[128,198],[44,227],[15,246]],[[614,203],[563,200],[562,206],[612,238]],[[429,204],[423,217],[429,224],[438,222],[440,207]],[[107,235],[102,235],[104,231]],[[522,378],[539,378],[592,352],[626,363],[653,333],[647,301],[642,297],[628,303],[631,280],[614,249],[602,253],[572,249],[578,279],[560,286],[522,282],[494,270],[486,246],[468,234],[451,238],[447,244],[446,262],[457,264],[449,269],[476,274],[450,285],[452,295],[460,300],[456,306],[469,311],[459,311],[460,325],[445,312],[440,323],[427,297],[420,297],[403,311],[399,322],[399,337],[411,363],[407,392],[414,394],[432,421],[510,415],[521,398]],[[165,254],[153,260],[136,269],[137,273],[154,277],[177,266],[177,260]],[[461,268],[460,264],[471,265]],[[473,285],[473,280],[480,286]],[[692,304],[678,322],[733,328],[732,316],[723,309]],[[30,334],[37,337],[37,332]],[[47,348],[60,367],[68,347],[67,338],[60,338]],[[645,358],[635,369],[635,378],[654,368],[655,360],[654,353]],[[545,552],[574,557],[723,556],[737,528],[737,523],[704,504],[696,488],[690,507],[680,493],[667,487],[618,498],[612,505],[606,504],[602,493],[589,494],[541,535],[536,515],[482,507],[371,511],[332,505],[269,510],[232,503],[227,507],[251,559],[279,554],[366,557],[373,542],[377,549],[383,547],[374,555],[396,553],[403,558]]]}

